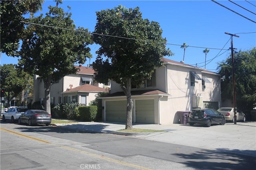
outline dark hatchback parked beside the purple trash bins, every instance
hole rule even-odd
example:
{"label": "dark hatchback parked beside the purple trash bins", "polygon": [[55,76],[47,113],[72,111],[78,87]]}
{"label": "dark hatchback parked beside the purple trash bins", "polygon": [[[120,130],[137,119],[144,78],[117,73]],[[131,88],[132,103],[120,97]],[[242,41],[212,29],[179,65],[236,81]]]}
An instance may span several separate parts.
{"label": "dark hatchback parked beside the purple trash bins", "polygon": [[191,126],[195,123],[200,123],[210,127],[212,124],[225,125],[226,119],[224,115],[215,109],[198,108],[191,111],[188,116],[188,123]]}

